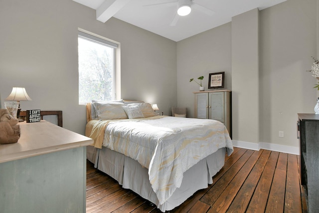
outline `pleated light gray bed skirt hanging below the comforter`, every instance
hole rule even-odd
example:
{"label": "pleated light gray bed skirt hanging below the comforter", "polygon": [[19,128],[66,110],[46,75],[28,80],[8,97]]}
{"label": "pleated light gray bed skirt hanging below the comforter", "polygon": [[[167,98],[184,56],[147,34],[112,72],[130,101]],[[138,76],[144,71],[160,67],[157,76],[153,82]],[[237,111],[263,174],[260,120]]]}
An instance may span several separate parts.
{"label": "pleated light gray bed skirt hanging below the comforter", "polygon": [[108,148],[96,149],[92,146],[87,148],[87,159],[94,163],[95,168],[117,180],[123,188],[134,191],[165,212],[182,204],[196,191],[212,184],[212,177],[224,166],[225,152],[226,148],[221,148],[188,169],[183,174],[180,188],[162,205],[150,184],[148,169],[143,168],[137,161]]}

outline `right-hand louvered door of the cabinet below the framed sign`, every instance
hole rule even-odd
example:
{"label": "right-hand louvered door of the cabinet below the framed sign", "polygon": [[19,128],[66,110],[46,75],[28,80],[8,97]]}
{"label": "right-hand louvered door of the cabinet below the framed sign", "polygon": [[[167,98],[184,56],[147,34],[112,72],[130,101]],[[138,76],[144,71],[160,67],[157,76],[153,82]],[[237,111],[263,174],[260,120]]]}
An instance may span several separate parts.
{"label": "right-hand louvered door of the cabinet below the framed sign", "polygon": [[209,94],[209,119],[225,123],[224,92],[213,92]]}

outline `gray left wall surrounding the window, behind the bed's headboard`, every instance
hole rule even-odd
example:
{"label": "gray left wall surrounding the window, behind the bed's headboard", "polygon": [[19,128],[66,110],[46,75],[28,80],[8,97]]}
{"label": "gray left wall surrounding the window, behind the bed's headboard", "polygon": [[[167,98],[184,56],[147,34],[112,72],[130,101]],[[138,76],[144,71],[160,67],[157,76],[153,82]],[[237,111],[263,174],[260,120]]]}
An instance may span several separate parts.
{"label": "gray left wall surrounding the window, behind the bed's headboard", "polygon": [[176,105],[176,42],[116,18],[96,20],[95,10],[72,0],[0,1],[0,97],[25,87],[32,101],[22,110],[63,110],[63,127],[84,134],[78,105],[78,27],[120,42],[121,97]]}

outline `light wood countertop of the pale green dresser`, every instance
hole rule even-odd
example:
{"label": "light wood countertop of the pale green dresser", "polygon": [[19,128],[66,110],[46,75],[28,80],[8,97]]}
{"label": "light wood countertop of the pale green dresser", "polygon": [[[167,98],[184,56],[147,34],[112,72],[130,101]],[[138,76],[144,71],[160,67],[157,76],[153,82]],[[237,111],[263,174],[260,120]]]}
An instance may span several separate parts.
{"label": "light wood countertop of the pale green dresser", "polygon": [[93,139],[56,126],[45,120],[20,122],[17,143],[0,144],[0,163],[73,149],[93,144]]}

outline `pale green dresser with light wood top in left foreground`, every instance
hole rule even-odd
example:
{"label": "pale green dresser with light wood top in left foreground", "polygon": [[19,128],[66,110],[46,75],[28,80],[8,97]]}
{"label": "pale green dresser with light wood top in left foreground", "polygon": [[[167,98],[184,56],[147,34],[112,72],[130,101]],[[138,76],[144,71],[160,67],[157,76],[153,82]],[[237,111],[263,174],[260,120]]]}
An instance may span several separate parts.
{"label": "pale green dresser with light wood top in left foreground", "polygon": [[86,146],[93,140],[41,120],[0,145],[1,213],[85,213]]}

